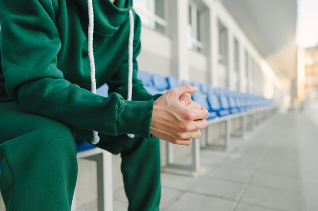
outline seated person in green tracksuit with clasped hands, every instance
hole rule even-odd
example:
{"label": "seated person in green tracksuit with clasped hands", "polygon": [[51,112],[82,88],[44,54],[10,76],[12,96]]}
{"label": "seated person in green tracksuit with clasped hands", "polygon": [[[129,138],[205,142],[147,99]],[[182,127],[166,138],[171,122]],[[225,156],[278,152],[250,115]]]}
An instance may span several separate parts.
{"label": "seated person in green tracksuit with clasped hands", "polygon": [[[75,139],[92,138],[121,153],[129,210],[158,210],[156,137],[189,145],[208,112],[190,100],[193,87],[162,96],[145,91],[136,77],[140,19],[132,6],[0,0],[0,189],[7,211],[70,210]],[[94,94],[105,82],[109,96]]]}

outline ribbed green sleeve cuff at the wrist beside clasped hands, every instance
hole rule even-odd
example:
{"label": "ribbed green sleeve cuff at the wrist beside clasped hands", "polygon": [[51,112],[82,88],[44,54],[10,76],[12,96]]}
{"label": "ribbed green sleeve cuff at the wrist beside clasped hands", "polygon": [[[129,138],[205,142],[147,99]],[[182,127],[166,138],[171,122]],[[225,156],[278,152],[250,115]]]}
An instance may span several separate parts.
{"label": "ribbed green sleeve cuff at the wrist beside clasped hands", "polygon": [[119,100],[117,110],[117,134],[135,134],[150,139],[153,100]]}

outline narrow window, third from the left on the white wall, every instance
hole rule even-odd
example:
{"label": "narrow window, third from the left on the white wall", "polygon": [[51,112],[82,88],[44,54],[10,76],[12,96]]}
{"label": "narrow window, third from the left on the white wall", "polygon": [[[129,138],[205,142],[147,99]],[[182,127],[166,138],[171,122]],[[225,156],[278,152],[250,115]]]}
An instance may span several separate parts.
{"label": "narrow window, third from the left on the white wall", "polygon": [[218,62],[226,65],[228,59],[228,29],[218,21]]}

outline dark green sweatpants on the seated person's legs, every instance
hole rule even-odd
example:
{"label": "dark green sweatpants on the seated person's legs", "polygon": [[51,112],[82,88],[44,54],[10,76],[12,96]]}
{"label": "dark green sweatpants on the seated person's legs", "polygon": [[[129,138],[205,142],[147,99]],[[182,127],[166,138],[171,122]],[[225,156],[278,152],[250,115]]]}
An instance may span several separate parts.
{"label": "dark green sweatpants on the seated person's legs", "polygon": [[[103,118],[103,117],[101,117]],[[101,137],[98,147],[121,153],[131,211],[158,210],[160,151],[157,138]],[[91,132],[0,103],[0,190],[7,211],[68,211],[77,178],[75,138]]]}

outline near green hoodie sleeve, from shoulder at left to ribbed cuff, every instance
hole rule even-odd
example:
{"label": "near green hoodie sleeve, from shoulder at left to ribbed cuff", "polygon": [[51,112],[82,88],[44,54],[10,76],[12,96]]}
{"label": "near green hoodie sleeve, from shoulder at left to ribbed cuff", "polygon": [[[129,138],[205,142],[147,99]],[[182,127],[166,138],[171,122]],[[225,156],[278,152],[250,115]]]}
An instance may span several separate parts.
{"label": "near green hoodie sleeve, from shoulder at left to ribbed cuff", "polygon": [[[104,98],[63,78],[57,68],[57,5],[49,0],[0,0],[2,68],[9,97],[26,113],[77,128],[149,138],[153,99],[125,101],[117,93]],[[126,118],[134,119],[134,125],[123,124]]]}

